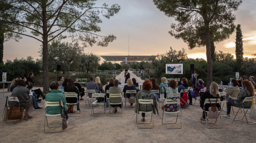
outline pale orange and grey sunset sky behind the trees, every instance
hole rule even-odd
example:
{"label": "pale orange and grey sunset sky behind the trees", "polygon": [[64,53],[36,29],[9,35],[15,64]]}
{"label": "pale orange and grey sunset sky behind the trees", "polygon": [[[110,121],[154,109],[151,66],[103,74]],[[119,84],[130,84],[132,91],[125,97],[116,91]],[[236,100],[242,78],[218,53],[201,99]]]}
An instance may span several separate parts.
{"label": "pale orange and grey sunset sky behind the trees", "polygon": [[[99,24],[101,32],[99,35],[114,34],[117,39],[109,43],[108,47],[93,46],[85,48],[86,53],[96,55],[128,55],[128,35],[130,35],[130,55],[157,55],[169,51],[170,47],[175,50],[186,49],[190,58],[206,59],[206,48],[200,47],[189,50],[182,39],[175,39],[170,31],[171,23],[175,23],[174,18],[169,18],[158,10],[151,0],[98,0],[96,6],[101,6],[104,2],[109,5],[119,4],[119,13],[110,19],[102,18]],[[256,52],[256,1],[245,0],[239,6],[236,15],[235,25],[240,24],[243,34],[244,57],[252,57]],[[216,45],[216,51],[223,51],[235,55],[234,32],[229,39]],[[64,39],[65,42],[71,42]],[[4,43],[4,61],[32,56],[39,58],[39,48],[41,43],[33,38],[23,36],[20,42],[9,40]],[[82,46],[82,45],[81,45]],[[101,62],[103,59],[101,59]]]}

